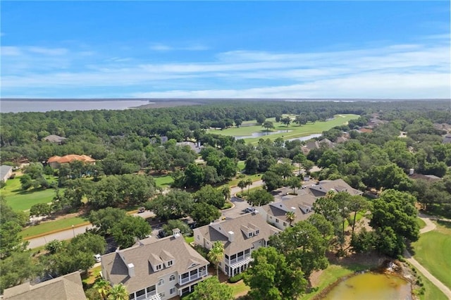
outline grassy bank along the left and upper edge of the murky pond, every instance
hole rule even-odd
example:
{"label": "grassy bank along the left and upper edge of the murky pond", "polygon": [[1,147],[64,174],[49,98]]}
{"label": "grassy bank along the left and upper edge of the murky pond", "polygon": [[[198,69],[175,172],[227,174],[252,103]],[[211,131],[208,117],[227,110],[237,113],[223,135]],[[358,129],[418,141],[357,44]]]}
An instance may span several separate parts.
{"label": "grassy bank along the left and upper edge of the murky pond", "polygon": [[350,263],[349,265],[335,265],[330,264],[326,270],[323,270],[321,275],[319,275],[319,285],[314,287],[314,291],[304,294],[299,297],[299,300],[312,299],[316,294],[319,294],[323,289],[333,284],[339,278],[347,275],[351,275],[357,271],[368,270],[374,265],[362,265],[359,263]]}

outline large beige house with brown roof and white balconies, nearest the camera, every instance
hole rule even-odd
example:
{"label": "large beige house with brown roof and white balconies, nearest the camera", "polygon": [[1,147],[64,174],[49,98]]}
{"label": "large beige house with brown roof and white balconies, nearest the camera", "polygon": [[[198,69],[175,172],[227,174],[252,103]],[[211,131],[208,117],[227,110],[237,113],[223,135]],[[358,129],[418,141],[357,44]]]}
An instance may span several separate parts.
{"label": "large beige house with brown roof and white balconies, nearest the camera", "polygon": [[111,285],[123,283],[130,300],[163,300],[192,292],[197,283],[209,277],[208,265],[178,229],[170,237],[149,237],[101,256],[104,279]]}

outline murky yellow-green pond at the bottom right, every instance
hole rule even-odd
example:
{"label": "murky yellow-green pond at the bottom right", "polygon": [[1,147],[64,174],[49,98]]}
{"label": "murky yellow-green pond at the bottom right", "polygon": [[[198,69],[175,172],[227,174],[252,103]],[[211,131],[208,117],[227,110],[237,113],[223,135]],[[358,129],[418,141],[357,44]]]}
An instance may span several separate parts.
{"label": "murky yellow-green pond at the bottom right", "polygon": [[352,276],[332,287],[322,299],[412,299],[412,287],[395,275],[363,273]]}

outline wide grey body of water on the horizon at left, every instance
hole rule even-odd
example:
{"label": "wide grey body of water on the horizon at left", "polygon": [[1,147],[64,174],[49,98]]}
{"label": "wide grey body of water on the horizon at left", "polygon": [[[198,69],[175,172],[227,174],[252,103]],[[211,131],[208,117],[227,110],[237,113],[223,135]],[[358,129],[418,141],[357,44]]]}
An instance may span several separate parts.
{"label": "wide grey body of water on the horizon at left", "polygon": [[46,111],[92,111],[99,109],[123,110],[151,104],[144,100],[102,100],[102,101],[16,101],[1,100],[1,113],[46,112]]}

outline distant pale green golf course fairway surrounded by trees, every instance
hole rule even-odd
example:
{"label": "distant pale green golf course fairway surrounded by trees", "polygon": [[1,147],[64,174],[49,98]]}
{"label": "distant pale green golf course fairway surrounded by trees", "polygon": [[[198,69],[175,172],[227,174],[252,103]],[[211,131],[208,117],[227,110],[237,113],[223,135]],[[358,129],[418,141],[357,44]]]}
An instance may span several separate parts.
{"label": "distant pale green golf course fairway surrounded by trees", "polygon": [[[296,137],[305,137],[307,135],[313,135],[316,133],[321,133],[325,130],[329,130],[332,127],[344,125],[349,120],[357,119],[358,115],[335,115],[333,120],[328,120],[326,122],[316,122],[314,124],[309,123],[306,125],[298,126],[297,124],[291,123],[288,127],[283,125],[282,123],[276,123],[275,118],[268,118],[266,120],[270,120],[274,124],[273,130],[283,130],[283,132],[279,132],[274,135],[268,135],[263,137],[254,137],[250,139],[245,139],[246,142],[255,143],[258,142],[259,139],[271,139],[274,140],[278,137],[283,137],[283,139],[294,139]],[[255,121],[251,121],[251,123],[255,123]],[[289,130],[289,132],[287,132]],[[216,133],[219,135],[232,135],[232,136],[247,136],[252,135],[253,132],[266,132],[264,127],[261,125],[247,126],[247,127],[231,127],[225,130],[212,130],[211,133]]]}

